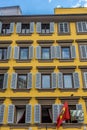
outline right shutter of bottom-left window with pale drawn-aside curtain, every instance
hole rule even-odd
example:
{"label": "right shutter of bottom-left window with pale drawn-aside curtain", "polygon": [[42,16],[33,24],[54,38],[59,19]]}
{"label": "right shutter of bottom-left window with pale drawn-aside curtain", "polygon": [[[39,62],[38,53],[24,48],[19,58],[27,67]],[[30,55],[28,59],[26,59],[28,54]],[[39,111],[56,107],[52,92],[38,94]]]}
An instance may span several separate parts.
{"label": "right shutter of bottom-left window with pale drawn-aside curtain", "polygon": [[31,123],[31,119],[32,119],[32,107],[31,107],[31,105],[26,105],[25,122],[26,123]]}

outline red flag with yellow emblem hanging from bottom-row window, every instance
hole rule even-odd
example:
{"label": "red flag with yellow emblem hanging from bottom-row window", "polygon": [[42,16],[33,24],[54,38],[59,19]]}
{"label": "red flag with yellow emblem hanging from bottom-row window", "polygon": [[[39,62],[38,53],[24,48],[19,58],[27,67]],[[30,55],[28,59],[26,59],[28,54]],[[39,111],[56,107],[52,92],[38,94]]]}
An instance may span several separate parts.
{"label": "red flag with yellow emblem hanging from bottom-row window", "polygon": [[57,127],[59,128],[59,126],[62,124],[63,121],[69,119],[70,119],[70,113],[68,109],[68,103],[65,102],[57,118]]}

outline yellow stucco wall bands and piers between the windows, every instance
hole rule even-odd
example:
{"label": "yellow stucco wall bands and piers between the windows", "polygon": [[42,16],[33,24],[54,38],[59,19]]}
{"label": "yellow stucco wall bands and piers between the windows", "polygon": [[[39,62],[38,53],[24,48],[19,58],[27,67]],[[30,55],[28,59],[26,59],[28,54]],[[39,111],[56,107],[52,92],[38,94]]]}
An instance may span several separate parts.
{"label": "yellow stucco wall bands and piers between the windows", "polygon": [[[71,13],[87,13],[87,8],[82,9],[82,8],[77,8],[77,9],[55,9],[55,14],[71,14]],[[74,62],[59,62],[59,60],[53,60],[51,63],[39,63],[38,60],[35,58],[31,60],[29,63],[17,63],[13,58],[11,58],[8,63],[0,63],[0,67],[6,67],[9,66],[9,82],[8,82],[8,88],[6,89],[5,92],[0,92],[0,97],[6,97],[4,104],[6,105],[5,107],[5,115],[4,115],[4,124],[7,124],[7,116],[8,116],[8,105],[11,104],[10,97],[32,97],[30,100],[30,104],[32,105],[32,124],[34,123],[34,105],[37,104],[37,100],[35,97],[55,97],[55,96],[70,96],[71,94],[74,94],[74,96],[86,96],[87,92],[83,91],[83,84],[82,84],[82,75],[81,75],[81,70],[78,68],[79,65],[87,65],[87,62],[80,62],[79,60],[79,51],[78,51],[78,43],[75,42],[76,39],[86,39],[86,35],[76,35],[76,25],[75,22],[70,23],[70,32],[71,35],[66,35],[66,36],[60,36],[58,35],[58,27],[57,23],[55,23],[55,30],[54,34],[52,36],[39,36],[39,34],[36,33],[36,25],[34,28],[34,33],[31,36],[18,36],[16,34],[16,25],[15,25],[15,31],[11,36],[0,36],[1,40],[12,40],[12,52],[14,52],[14,46],[16,46],[16,40],[32,40],[33,39],[33,46],[34,50],[37,44],[37,40],[54,40],[55,42],[53,43],[54,46],[58,45],[56,43],[56,40],[68,40],[68,39],[73,39],[73,45],[76,47],[76,59]],[[38,72],[36,69],[36,66],[56,66],[56,69],[54,70],[55,72],[58,72],[59,70],[57,69],[58,66],[76,66],[75,71],[79,73],[80,76],[80,88],[76,92],[61,92],[58,88],[54,92],[39,92],[37,89],[35,89],[35,82],[33,82],[33,88],[29,90],[28,92],[13,92],[10,88],[10,83],[11,83],[11,76],[13,73],[13,67],[14,66],[32,66],[32,74],[33,74],[33,81],[35,81],[35,74]],[[57,98],[55,103],[60,103],[60,100]],[[87,123],[87,113],[86,113],[86,106],[85,106],[85,101],[80,98],[79,103],[82,104],[83,110],[84,110],[84,123]],[[83,130],[83,127],[81,127],[81,130]],[[45,130],[46,128],[43,128],[42,130]],[[55,128],[56,129],[56,128]],[[62,130],[63,128],[60,127],[59,130]],[[72,128],[66,128],[67,130],[72,130]],[[0,126],[0,130],[28,130],[27,128],[10,128],[8,125],[5,126]],[[32,130],[38,130],[37,127],[32,127]],[[49,128],[49,130],[52,130]],[[73,128],[73,130],[78,130],[78,128]]]}

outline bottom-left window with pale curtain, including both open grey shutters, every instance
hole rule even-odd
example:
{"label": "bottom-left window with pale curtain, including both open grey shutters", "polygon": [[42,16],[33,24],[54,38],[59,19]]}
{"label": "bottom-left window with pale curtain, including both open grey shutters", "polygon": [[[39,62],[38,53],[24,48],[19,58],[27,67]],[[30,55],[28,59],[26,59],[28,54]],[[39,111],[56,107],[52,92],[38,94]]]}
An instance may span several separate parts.
{"label": "bottom-left window with pale curtain, including both open grey shutters", "polygon": [[9,105],[8,123],[23,124],[31,123],[31,105]]}

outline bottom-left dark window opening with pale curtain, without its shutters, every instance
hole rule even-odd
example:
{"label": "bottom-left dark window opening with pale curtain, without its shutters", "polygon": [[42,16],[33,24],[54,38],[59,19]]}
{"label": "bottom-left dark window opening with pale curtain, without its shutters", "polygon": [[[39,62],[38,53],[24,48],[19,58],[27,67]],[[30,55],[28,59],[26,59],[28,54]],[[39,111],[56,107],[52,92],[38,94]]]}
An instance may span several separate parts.
{"label": "bottom-left dark window opening with pale curtain, without its shutters", "polygon": [[25,106],[16,106],[16,123],[25,123]]}

